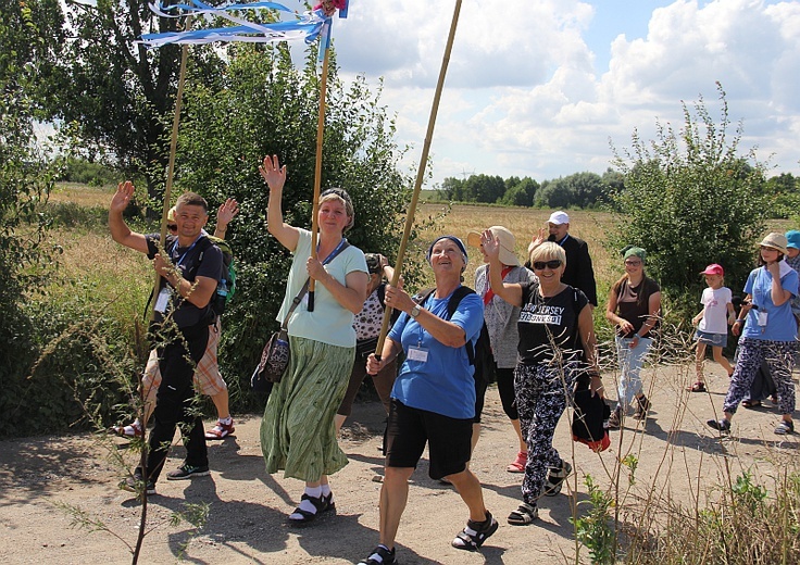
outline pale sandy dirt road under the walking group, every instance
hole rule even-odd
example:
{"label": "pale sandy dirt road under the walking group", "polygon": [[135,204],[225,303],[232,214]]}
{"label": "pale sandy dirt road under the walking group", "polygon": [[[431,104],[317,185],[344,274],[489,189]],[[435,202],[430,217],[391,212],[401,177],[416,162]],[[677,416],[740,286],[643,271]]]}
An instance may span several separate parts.
{"label": "pale sandy dirt road under the walking group", "polygon": [[[635,484],[624,504],[655,493],[658,500],[689,502],[693,493],[720,484],[726,465],[732,473],[752,469],[767,488],[776,466],[797,466],[800,436],[778,438],[774,409],[740,410],[733,439],[720,441],[704,422],[717,411],[727,377],[712,365],[711,393],[684,390],[690,378],[680,367],[658,367],[646,375],[653,411],[642,429],[628,419],[612,447],[595,454],[571,441],[568,417],[562,417],[557,448],[573,462],[576,474],[561,494],[542,499],[540,519],[527,527],[505,523],[516,507],[521,476],[505,472],[516,448],[497,390],[489,389],[484,430],[472,468],[484,484],[487,506],[501,523],[480,553],[450,547],[466,519],[464,505],[451,487],[427,477],[421,464],[412,478],[409,505],[398,536],[398,560],[408,564],[575,563],[576,544],[570,517],[585,501],[585,475],[608,486],[618,459],[637,462]],[[611,380],[611,379],[609,379]],[[613,386],[613,385],[612,385]],[[768,406],[768,403],[767,403]],[[384,417],[379,403],[357,405],[341,439],[350,464],[332,477],[338,514],[298,529],[286,526],[302,486],[264,473],[259,447],[260,417],[236,418],[236,435],[210,445],[212,475],[193,481],[160,481],[150,498],[153,522],[166,520],[185,501],[207,502],[207,525],[193,531],[186,524],[162,524],[146,539],[140,563],[185,560],[198,564],[354,563],[377,542],[378,491],[383,459],[378,451]],[[126,442],[114,438],[112,453],[127,455]],[[180,463],[183,448],[173,448],[166,468]],[[91,435],[26,438],[0,442],[0,563],[129,563],[125,544],[113,535],[70,527],[71,517],[57,503],[83,508],[128,543],[135,540],[139,503],[116,485],[121,470],[109,450]],[[627,470],[623,469],[628,485]],[[710,494],[713,499],[713,493]],[[585,512],[586,506],[578,510]],[[185,548],[185,549],[184,549]],[[582,549],[580,562],[587,561]]]}

